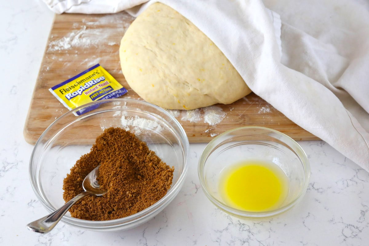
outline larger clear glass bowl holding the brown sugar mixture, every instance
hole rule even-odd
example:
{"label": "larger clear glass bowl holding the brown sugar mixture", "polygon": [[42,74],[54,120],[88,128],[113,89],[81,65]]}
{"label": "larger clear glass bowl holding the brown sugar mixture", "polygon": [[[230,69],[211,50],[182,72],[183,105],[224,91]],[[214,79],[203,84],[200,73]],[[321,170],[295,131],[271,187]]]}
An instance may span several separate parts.
{"label": "larger clear glass bowl holding the brown sugar mixture", "polygon": [[120,98],[97,101],[56,119],[35,144],[30,160],[30,180],[38,199],[49,212],[65,203],[63,179],[70,168],[82,155],[90,152],[96,137],[109,127],[133,132],[163,162],[174,166],[172,186],[163,198],[134,215],[108,221],[88,221],[73,218],[68,212],[62,218],[68,225],[94,231],[133,228],[162,211],[183,185],[189,159],[189,142],[182,126],[172,115],[139,100]]}

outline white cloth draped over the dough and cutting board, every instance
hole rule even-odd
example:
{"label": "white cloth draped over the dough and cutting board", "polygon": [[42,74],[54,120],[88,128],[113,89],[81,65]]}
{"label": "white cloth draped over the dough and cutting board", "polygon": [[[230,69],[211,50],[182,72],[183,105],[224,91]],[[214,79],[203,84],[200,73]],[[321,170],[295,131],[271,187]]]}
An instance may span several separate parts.
{"label": "white cloth draped over the dough and cutting board", "polygon": [[[156,2],[44,1],[56,13],[131,8],[133,15]],[[281,55],[278,21],[273,21],[278,15],[261,0],[160,2],[203,31],[255,94],[369,171],[368,5],[351,0],[264,0],[282,19]]]}

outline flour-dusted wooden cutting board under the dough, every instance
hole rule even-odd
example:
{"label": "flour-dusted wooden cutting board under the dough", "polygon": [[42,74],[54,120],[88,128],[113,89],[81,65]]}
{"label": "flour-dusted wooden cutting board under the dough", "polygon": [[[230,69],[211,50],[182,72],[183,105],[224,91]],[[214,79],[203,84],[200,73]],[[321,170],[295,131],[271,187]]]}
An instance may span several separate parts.
{"label": "flour-dusted wooden cutting board under the dough", "polygon": [[[68,111],[48,89],[97,63],[128,90],[123,97],[141,99],[125,81],[119,62],[120,40],[133,20],[125,12],[55,15],[25,122],[24,138],[28,143],[34,144],[55,119]],[[182,124],[190,142],[209,142],[224,131],[251,125],[276,129],[297,141],[318,139],[254,93],[228,105],[170,112]]]}

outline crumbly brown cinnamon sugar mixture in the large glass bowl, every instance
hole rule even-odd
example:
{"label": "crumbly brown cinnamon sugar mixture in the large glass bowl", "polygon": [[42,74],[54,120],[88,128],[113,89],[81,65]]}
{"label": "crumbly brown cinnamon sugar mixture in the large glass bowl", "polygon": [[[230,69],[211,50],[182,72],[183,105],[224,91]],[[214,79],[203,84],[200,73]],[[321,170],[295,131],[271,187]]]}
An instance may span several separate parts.
{"label": "crumbly brown cinnamon sugar mixture in the large glass bowl", "polygon": [[99,164],[99,184],[107,193],[87,196],[73,205],[69,212],[75,218],[101,221],[135,214],[161,199],[172,184],[174,167],[134,134],[108,128],[64,179],[65,201],[83,192],[83,179]]}

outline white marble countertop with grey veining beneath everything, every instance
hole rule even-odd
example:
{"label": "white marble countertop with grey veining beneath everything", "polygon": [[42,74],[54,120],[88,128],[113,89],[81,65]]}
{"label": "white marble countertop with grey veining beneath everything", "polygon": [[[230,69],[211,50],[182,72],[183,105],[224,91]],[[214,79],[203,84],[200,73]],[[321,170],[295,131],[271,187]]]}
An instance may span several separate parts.
{"label": "white marble countertop with grey veining beneath everything", "polygon": [[368,245],[369,174],[323,141],[299,142],[311,164],[303,201],[269,219],[231,217],[207,200],[197,177],[205,144],[191,144],[185,184],[158,216],[129,231],[83,231],[60,223],[46,234],[26,224],[47,214],[28,178],[23,138],[28,105],[54,14],[38,1],[4,1],[0,62],[0,245]]}

